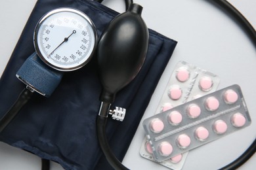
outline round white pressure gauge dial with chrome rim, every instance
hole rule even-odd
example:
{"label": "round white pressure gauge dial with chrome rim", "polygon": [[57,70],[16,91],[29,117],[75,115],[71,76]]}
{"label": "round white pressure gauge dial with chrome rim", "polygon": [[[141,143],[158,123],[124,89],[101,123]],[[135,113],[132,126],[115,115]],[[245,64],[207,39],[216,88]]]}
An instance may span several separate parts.
{"label": "round white pressure gauge dial with chrome rim", "polygon": [[35,27],[34,45],[39,58],[60,71],[83,67],[93,56],[96,44],[95,25],[79,10],[52,10]]}

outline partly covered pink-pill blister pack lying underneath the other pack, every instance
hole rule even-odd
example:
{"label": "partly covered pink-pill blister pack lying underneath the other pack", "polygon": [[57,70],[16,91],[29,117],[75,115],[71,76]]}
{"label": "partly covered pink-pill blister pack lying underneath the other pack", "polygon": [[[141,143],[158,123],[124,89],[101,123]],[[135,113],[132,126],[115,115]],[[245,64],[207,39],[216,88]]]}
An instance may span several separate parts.
{"label": "partly covered pink-pill blister pack lying underneath the other pack", "polygon": [[[169,78],[154,114],[169,110],[207,93],[215,92],[219,82],[220,79],[217,75],[185,61],[180,61]],[[187,155],[188,152],[185,152],[159,163],[170,169],[182,169]],[[146,138],[140,147],[140,156],[155,161],[150,143]]]}

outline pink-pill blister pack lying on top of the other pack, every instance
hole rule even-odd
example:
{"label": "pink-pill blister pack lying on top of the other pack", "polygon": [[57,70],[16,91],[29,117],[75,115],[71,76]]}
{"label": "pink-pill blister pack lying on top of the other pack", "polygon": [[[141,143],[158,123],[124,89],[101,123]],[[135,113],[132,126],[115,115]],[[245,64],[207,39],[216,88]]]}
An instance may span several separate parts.
{"label": "pink-pill blister pack lying on top of the other pack", "polygon": [[[194,110],[197,115],[191,114]],[[240,86],[233,85],[156,114],[142,124],[154,159],[164,161],[250,123]]]}

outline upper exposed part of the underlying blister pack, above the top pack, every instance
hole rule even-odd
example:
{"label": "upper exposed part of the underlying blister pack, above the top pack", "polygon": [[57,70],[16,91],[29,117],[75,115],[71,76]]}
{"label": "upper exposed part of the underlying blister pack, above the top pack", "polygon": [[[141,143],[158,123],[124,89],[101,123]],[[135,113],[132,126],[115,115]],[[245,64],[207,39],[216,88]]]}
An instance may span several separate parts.
{"label": "upper exposed part of the underlying blister pack, above the top pack", "polygon": [[180,61],[169,79],[156,113],[164,112],[186,101],[214,92],[219,86],[219,81],[219,76],[185,61]]}

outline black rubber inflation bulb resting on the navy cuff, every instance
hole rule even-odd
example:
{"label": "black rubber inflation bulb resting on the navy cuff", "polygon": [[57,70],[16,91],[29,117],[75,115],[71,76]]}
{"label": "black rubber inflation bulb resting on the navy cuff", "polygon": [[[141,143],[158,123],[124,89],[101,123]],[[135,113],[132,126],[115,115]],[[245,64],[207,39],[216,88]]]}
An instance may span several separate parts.
{"label": "black rubber inflation bulb resting on the navy cuff", "polygon": [[98,71],[102,84],[100,101],[113,103],[116,93],[139,73],[148,51],[148,27],[142,7],[131,4],[116,16],[98,43]]}

